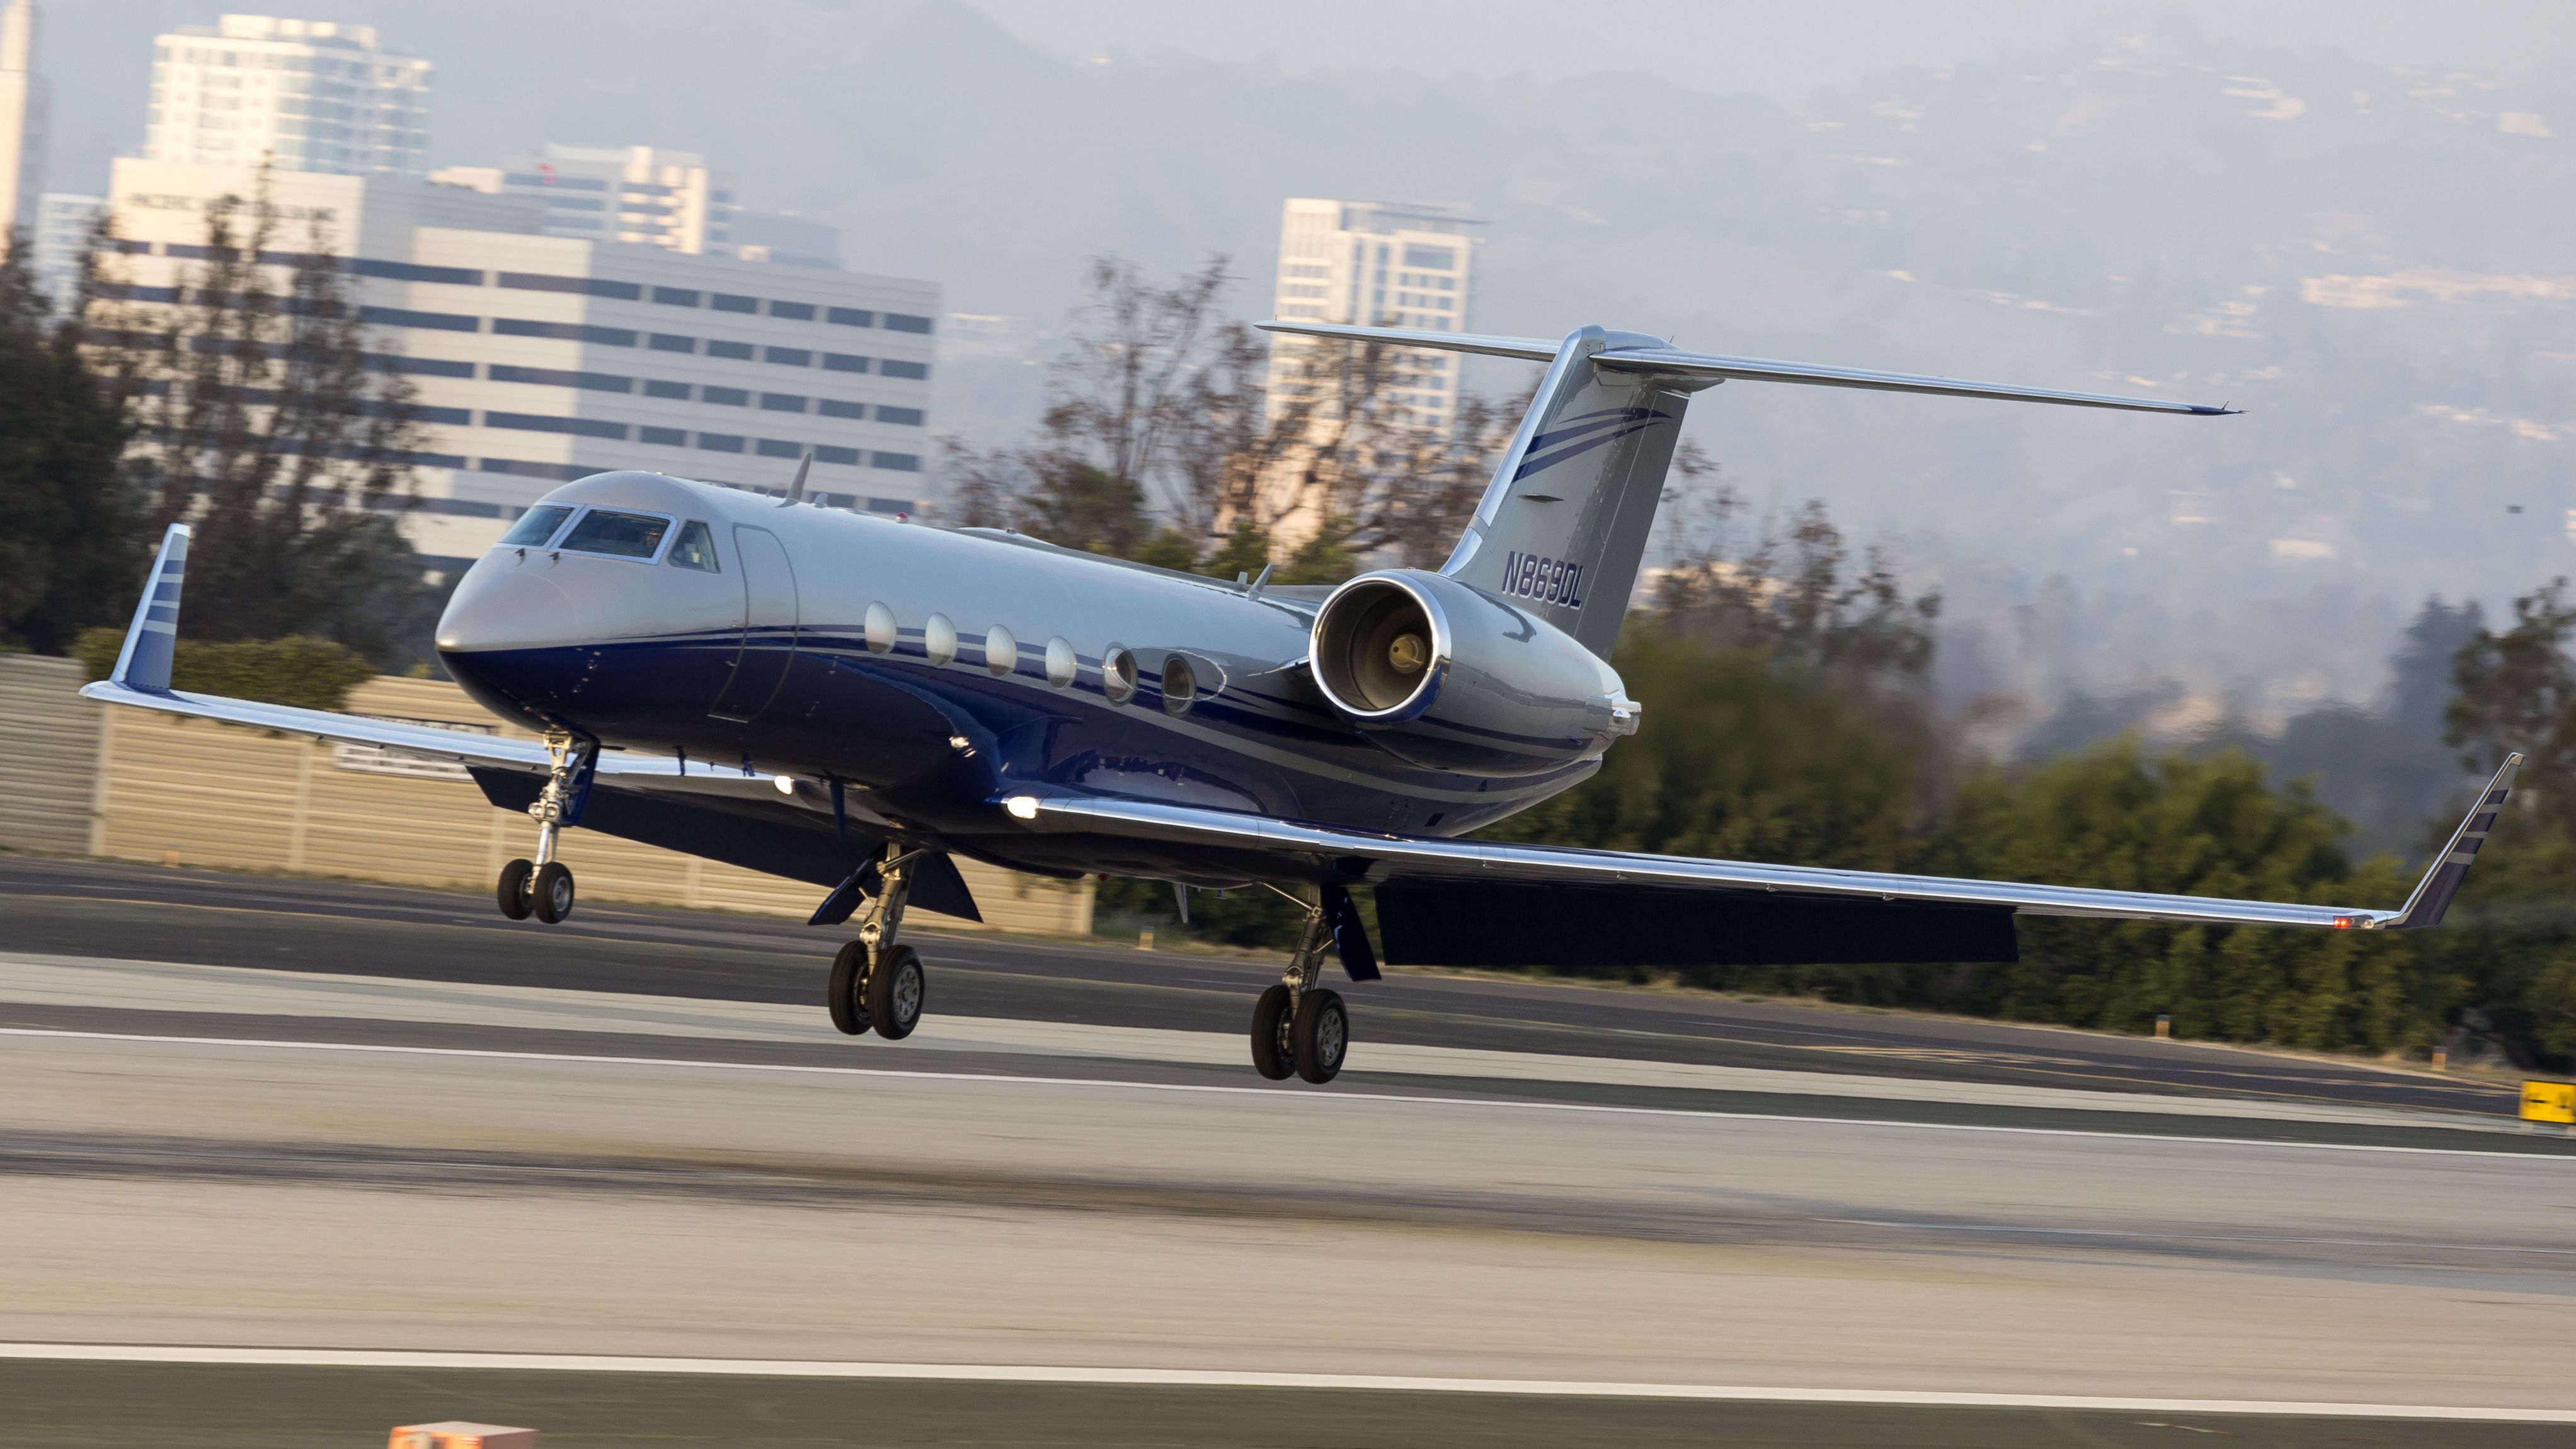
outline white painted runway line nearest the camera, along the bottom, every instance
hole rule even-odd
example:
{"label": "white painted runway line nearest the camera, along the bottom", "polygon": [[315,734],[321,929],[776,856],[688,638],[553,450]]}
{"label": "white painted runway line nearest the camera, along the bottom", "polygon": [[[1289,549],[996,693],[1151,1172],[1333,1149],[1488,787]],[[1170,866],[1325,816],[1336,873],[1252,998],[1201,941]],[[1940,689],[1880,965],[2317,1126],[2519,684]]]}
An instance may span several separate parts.
{"label": "white painted runway line nearest the camera, along the bottom", "polygon": [[1435,1379],[1401,1374],[1257,1374],[1236,1369],[1077,1369],[1043,1364],[835,1364],[817,1359],[634,1359],[590,1354],[412,1354],[399,1348],[196,1348],[183,1343],[0,1343],[0,1359],[80,1364],[245,1364],[296,1369],[546,1369],[567,1374],[739,1374],[770,1379],[945,1379],[992,1385],[1136,1385],[1221,1390],[1381,1390],[1432,1395],[1659,1397],[1741,1403],[1883,1403],[1914,1408],[2092,1408],[2123,1413],[2262,1413],[2300,1418],[2452,1418],[2576,1423],[2571,1408],[2293,1403],[2097,1395],[1955,1395],[1929,1390],[1790,1390],[1623,1385],[1600,1379]]}

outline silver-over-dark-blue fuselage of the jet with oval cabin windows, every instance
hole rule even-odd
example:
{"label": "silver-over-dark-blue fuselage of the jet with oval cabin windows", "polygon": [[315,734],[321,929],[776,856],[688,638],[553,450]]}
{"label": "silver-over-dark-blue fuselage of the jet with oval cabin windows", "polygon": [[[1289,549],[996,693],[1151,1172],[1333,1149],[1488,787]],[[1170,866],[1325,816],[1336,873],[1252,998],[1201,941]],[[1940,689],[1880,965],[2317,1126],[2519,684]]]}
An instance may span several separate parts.
{"label": "silver-over-dark-blue fuselage of the jet with oval cabin windows", "polygon": [[[1492,773],[1399,761],[1316,691],[1311,598],[659,474],[595,474],[541,505],[703,521],[719,572],[677,567],[672,539],[652,557],[489,549],[438,632],[474,699],[605,748],[840,781],[855,815],[999,864],[1255,874],[1012,830],[1012,786],[1455,835],[1600,768],[1597,753],[1533,766],[1510,740]],[[1103,670],[1121,650],[1131,691]]]}

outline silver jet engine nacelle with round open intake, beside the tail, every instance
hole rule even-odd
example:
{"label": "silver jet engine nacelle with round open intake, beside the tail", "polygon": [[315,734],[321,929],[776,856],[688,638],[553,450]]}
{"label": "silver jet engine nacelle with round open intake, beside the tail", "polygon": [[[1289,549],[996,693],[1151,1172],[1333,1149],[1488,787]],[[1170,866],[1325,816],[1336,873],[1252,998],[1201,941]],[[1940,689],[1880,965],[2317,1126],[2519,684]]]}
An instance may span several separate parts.
{"label": "silver jet engine nacelle with round open intake, beside the tail", "polygon": [[1607,663],[1535,614],[1422,570],[1363,572],[1314,616],[1324,699],[1388,753],[1543,773],[1636,732]]}

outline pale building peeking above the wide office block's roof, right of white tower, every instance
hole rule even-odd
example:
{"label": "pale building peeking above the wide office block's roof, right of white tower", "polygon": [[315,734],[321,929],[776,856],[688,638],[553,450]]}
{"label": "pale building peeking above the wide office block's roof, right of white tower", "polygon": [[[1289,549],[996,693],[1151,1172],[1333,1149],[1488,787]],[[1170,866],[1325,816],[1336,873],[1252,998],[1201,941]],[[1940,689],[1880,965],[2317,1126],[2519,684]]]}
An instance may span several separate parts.
{"label": "pale building peeking above the wide office block's roof, right of white tower", "polygon": [[567,147],[549,142],[500,165],[453,165],[430,180],[546,209],[549,237],[623,242],[683,255],[732,255],[734,178],[698,152]]}

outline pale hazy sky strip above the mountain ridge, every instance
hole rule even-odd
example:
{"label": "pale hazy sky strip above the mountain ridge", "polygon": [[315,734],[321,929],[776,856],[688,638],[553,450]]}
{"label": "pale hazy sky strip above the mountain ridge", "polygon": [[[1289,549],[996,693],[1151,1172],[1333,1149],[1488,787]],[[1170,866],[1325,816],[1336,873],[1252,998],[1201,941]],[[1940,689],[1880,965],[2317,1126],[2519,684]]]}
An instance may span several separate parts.
{"label": "pale hazy sky strip above the mountain ridge", "polygon": [[[1190,54],[1309,70],[1553,80],[1646,70],[1674,85],[1795,98],[1893,64],[1981,59],[2136,0],[971,0],[1064,54]],[[2576,64],[2568,0],[2161,0],[2223,39],[2339,46],[2380,64],[2527,75]]]}

